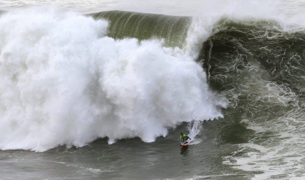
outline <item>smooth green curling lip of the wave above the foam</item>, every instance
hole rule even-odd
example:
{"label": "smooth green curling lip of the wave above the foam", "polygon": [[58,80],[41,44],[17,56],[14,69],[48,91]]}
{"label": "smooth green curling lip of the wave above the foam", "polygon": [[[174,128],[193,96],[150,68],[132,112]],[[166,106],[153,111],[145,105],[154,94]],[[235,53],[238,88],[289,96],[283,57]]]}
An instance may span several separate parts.
{"label": "smooth green curling lip of the wave above the foam", "polygon": [[95,20],[109,22],[107,36],[114,39],[164,39],[165,45],[182,47],[185,44],[190,17],[166,16],[127,11],[106,11],[88,14]]}

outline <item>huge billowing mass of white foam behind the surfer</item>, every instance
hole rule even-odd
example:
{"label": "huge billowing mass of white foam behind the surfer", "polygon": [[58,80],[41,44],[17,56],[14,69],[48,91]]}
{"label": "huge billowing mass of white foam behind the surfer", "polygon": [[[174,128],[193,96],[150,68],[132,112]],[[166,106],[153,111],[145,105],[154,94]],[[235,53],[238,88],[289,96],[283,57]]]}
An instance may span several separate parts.
{"label": "huge billowing mass of white foam behind the surfer", "polygon": [[[174,17],[148,16],[149,22],[159,18],[156,26],[164,21],[154,31],[160,36],[177,25]],[[107,36],[114,26],[104,20],[54,10],[7,13],[0,26],[2,150],[80,147],[106,136],[110,144],[136,136],[152,142],[181,122],[222,117],[218,106],[225,104],[180,48],[157,39],[116,40]]]}

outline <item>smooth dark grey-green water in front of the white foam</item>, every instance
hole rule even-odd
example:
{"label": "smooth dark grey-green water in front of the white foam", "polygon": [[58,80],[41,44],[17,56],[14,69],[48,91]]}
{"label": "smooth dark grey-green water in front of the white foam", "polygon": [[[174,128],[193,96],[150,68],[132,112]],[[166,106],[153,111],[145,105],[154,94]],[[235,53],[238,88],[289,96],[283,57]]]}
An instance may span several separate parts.
{"label": "smooth dark grey-green water in front of the white foam", "polygon": [[[188,147],[179,146],[179,126],[166,138],[144,143],[138,138],[108,145],[99,139],[81,148],[61,146],[45,152],[1,151],[2,178],[113,178],[113,179],[184,179],[200,177],[236,179],[249,177],[246,172],[222,164],[222,157],[236,150],[234,143],[221,143],[228,137],[217,128],[222,122],[204,122],[203,141]],[[178,133],[179,136],[179,133]],[[178,137],[179,138],[179,137]],[[235,141],[238,140],[228,140]],[[14,173],[18,172],[18,173]],[[69,172],[67,174],[67,172]],[[228,174],[228,175],[226,175]]]}

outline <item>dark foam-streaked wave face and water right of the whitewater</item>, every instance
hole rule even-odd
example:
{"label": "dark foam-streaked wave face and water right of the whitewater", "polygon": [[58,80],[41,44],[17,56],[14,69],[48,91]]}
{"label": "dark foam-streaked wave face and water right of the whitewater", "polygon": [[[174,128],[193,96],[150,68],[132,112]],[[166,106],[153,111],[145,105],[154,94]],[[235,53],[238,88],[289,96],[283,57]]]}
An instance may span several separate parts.
{"label": "dark foam-streaked wave face and water right of the whitewater", "polygon": [[[204,43],[209,85],[229,99],[222,141],[239,144],[224,164],[259,172],[254,179],[302,179],[304,173],[305,31],[275,21],[224,18]],[[231,135],[230,135],[231,134]],[[235,137],[235,138],[234,138]]]}

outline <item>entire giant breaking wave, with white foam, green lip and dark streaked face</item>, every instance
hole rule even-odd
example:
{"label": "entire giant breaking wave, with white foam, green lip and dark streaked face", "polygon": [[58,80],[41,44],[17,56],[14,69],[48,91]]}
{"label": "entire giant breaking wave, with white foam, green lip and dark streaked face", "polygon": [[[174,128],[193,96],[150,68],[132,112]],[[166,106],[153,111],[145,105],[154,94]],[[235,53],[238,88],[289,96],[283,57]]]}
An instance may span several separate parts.
{"label": "entire giant breaking wave, with white foam, green lip and dark streaked face", "polygon": [[[270,19],[26,10],[0,16],[0,148],[153,142],[219,119],[223,164],[304,174],[305,31]],[[192,140],[193,144],[200,139]]]}

